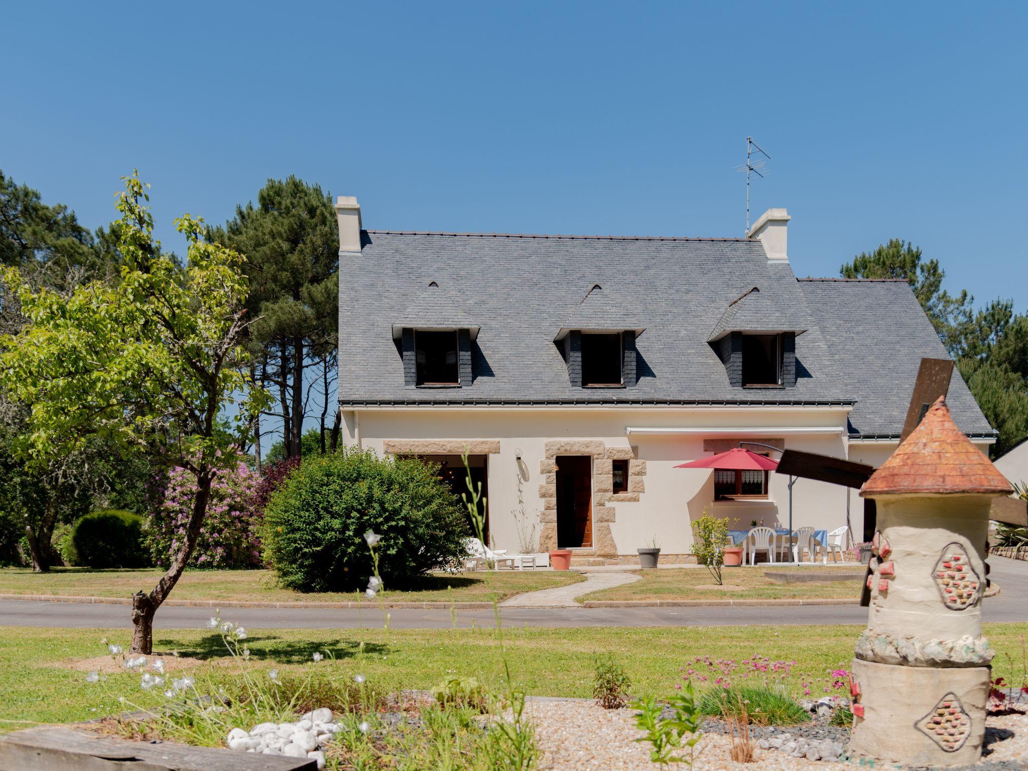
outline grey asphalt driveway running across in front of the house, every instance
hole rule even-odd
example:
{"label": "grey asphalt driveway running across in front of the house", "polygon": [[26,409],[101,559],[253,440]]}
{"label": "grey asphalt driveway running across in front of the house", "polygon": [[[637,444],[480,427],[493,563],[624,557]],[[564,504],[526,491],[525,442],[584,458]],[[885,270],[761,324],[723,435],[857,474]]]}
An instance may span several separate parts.
{"label": "grey asphalt driveway running across in front of the house", "polygon": [[[1002,587],[985,600],[987,622],[1028,621],[1028,562],[990,557],[990,574]],[[440,629],[452,624],[450,612],[394,610],[395,629]],[[222,616],[253,629],[356,629],[357,611],[340,609],[229,608]],[[203,627],[211,617],[205,608],[162,608],[154,626],[159,629]],[[788,605],[743,608],[505,608],[503,621],[510,627],[582,626],[735,626],[745,624],[865,624],[867,609],[859,605]],[[364,626],[381,625],[377,611],[363,611]],[[458,611],[458,627],[493,626],[492,611]],[[112,628],[128,625],[127,605],[75,602],[0,600],[0,626]],[[2,634],[2,633],[0,633]]]}

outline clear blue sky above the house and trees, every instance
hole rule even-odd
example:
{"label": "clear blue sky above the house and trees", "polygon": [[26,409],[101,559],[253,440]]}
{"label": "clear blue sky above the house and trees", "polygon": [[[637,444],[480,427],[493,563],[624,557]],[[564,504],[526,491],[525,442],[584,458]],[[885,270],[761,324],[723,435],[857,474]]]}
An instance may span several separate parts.
{"label": "clear blue sky above the house and trees", "polygon": [[372,228],[741,235],[793,215],[800,276],[891,236],[950,289],[1028,301],[1025,4],[22,3],[4,9],[0,169],[159,235],[268,177]]}

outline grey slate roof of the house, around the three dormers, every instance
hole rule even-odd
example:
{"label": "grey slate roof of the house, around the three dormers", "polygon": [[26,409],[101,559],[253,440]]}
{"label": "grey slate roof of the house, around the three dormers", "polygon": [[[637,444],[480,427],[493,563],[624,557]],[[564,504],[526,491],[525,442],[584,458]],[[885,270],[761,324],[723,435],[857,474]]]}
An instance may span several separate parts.
{"label": "grey slate roof of the house, around the three dormers", "polygon": [[[344,408],[855,403],[854,435],[898,436],[919,360],[946,356],[906,283],[797,281],[788,263],[768,261],[761,244],[746,238],[369,230],[360,253],[340,255],[339,273]],[[431,281],[458,292],[465,318],[481,327],[469,388],[404,386],[392,327]],[[617,299],[605,313],[630,313],[646,328],[636,345],[635,388],[572,387],[554,342],[596,284]],[[800,317],[798,328],[807,330],[796,340],[794,389],[732,388],[707,342],[729,303],[755,286],[761,303]],[[963,431],[993,435],[957,373],[949,403]]]}

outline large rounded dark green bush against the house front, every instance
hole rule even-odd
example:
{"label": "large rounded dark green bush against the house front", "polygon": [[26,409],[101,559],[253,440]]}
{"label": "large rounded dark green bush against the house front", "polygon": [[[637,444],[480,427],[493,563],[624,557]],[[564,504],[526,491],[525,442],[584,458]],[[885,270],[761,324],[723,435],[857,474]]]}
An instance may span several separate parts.
{"label": "large rounded dark green bush against the house front", "polygon": [[303,458],[272,493],[260,533],[264,560],[290,589],[362,588],[371,576],[369,529],[381,536],[378,570],[387,589],[453,565],[470,535],[437,469],[344,448]]}

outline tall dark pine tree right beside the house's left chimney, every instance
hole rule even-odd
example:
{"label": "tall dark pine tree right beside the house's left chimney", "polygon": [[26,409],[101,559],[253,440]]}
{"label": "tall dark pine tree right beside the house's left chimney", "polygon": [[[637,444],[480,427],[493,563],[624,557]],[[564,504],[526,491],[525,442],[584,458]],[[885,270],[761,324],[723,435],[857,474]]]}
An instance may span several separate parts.
{"label": "tall dark pine tree right beside the house's left chimney", "polygon": [[[235,217],[209,236],[247,255],[247,308],[260,317],[250,336],[254,379],[278,397],[285,456],[298,456],[305,449],[305,371],[321,370],[327,390],[325,373],[335,362],[339,227],[332,196],[296,177],[269,179],[256,207],[236,207]],[[323,416],[323,443],[324,424]]]}

